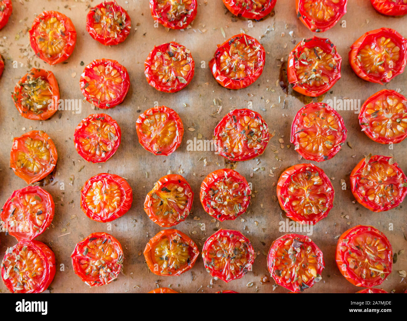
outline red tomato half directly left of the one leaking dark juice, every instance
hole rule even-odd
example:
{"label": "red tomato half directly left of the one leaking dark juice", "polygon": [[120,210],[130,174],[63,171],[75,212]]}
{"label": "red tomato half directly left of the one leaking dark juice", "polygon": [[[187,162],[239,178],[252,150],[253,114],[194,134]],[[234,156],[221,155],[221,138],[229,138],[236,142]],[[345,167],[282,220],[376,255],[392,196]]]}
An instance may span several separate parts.
{"label": "red tomato half directly left of the one leaking dark juice", "polygon": [[212,75],[228,89],[246,88],[263,73],[266,52],[257,39],[241,33],[218,45],[209,62]]}

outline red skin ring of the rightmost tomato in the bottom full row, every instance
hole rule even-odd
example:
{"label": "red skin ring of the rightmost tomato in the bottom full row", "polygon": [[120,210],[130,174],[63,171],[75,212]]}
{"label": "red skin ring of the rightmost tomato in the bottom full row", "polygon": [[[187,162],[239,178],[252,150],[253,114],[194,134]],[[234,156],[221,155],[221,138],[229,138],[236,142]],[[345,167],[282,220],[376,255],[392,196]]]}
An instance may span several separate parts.
{"label": "red skin ring of the rightmost tomato in the bottom full row", "polygon": [[[380,276],[376,276],[375,280],[362,278],[361,276],[354,273],[354,269],[349,267],[348,261],[346,260],[345,255],[347,255],[348,251],[350,251],[350,246],[348,246],[348,244],[350,244],[353,239],[360,237],[359,235],[361,235],[361,233],[366,232],[370,233],[370,235],[372,235],[374,239],[380,239],[381,241],[383,241],[384,245],[386,246],[385,250],[387,250],[388,252],[385,257],[385,259],[387,259],[387,266],[385,267],[385,269],[383,269],[383,271],[386,271],[386,273],[384,273],[385,277],[383,279]],[[344,247],[344,250],[341,250],[341,247]],[[352,249],[354,249],[354,247],[352,247]],[[383,281],[387,278],[387,275],[391,273],[393,266],[393,249],[389,240],[381,231],[374,228],[373,226],[357,225],[348,229],[339,237],[335,252],[335,260],[339,271],[350,283],[356,285],[357,287],[370,288],[382,284]]]}

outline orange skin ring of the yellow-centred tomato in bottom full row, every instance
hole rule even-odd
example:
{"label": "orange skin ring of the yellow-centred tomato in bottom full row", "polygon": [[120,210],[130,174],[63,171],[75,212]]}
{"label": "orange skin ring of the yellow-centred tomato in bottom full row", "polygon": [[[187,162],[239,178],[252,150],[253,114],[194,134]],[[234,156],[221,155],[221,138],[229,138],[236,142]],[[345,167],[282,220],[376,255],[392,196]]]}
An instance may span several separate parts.
{"label": "orange skin ring of the yellow-centred tomato in bottom full row", "polygon": [[[168,273],[160,272],[157,270],[155,267],[158,264],[158,261],[154,258],[155,254],[155,249],[156,246],[159,245],[160,241],[163,239],[168,239],[170,241],[170,244],[173,245],[174,243],[177,243],[176,241],[181,242],[182,240],[182,246],[187,245],[188,246],[188,255],[190,258],[188,258],[188,261],[186,260],[187,264],[184,262],[184,266],[180,265],[179,267],[170,267],[173,271],[170,271]],[[179,243],[178,242],[178,243]],[[168,253],[168,252],[167,252]],[[199,255],[199,250],[195,242],[190,239],[187,235],[182,233],[181,231],[175,230],[175,229],[168,229],[168,230],[162,230],[158,232],[154,237],[150,239],[150,241],[147,243],[146,247],[144,248],[144,258],[146,259],[147,265],[150,269],[151,272],[153,272],[155,275],[159,276],[179,276],[183,274],[184,272],[190,270],[194,265],[195,261],[197,261],[198,255]],[[180,255],[180,254],[178,254]],[[161,259],[161,258],[160,258]],[[171,257],[170,257],[171,259]],[[167,260],[168,261],[168,260]]]}

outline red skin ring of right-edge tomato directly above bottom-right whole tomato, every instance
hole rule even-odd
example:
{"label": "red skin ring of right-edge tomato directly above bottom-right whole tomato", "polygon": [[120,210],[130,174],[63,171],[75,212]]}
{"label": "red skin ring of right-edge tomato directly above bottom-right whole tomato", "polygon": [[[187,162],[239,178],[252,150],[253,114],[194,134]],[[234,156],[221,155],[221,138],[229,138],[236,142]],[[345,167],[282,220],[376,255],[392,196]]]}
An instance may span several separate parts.
{"label": "red skin ring of right-edge tomato directly above bottom-right whole tomato", "polygon": [[[388,156],[382,156],[382,155],[374,155],[370,158],[369,164],[375,163],[375,162],[380,162],[381,164],[384,165],[389,165],[389,160],[392,157],[388,157]],[[363,196],[358,190],[358,184],[359,181],[361,179],[361,170],[363,168],[365,168],[366,162],[365,162],[365,158],[363,158],[352,170],[352,172],[350,173],[350,188],[352,190],[352,194],[354,196],[354,198],[358,201],[359,204],[363,205],[364,207],[366,207],[367,209],[370,209],[370,211],[373,212],[384,212],[384,211],[388,211],[389,209],[393,209],[394,207],[397,207],[398,205],[400,205],[406,194],[407,194],[407,177],[404,174],[403,170],[400,168],[400,166],[398,166],[398,164],[396,162],[394,162],[394,164],[392,164],[390,167],[393,169],[393,171],[395,171],[399,177],[399,182],[398,183],[398,195],[396,198],[396,201],[394,201],[394,197],[392,197],[392,202],[382,202],[380,205],[375,204],[372,200],[369,200],[366,196]],[[387,174],[386,174],[387,175]],[[365,177],[365,176],[363,176]],[[388,178],[388,177],[386,177]],[[370,181],[372,181],[372,179],[370,179]],[[392,183],[391,185],[395,185],[394,183]],[[406,186],[404,186],[406,185]]]}

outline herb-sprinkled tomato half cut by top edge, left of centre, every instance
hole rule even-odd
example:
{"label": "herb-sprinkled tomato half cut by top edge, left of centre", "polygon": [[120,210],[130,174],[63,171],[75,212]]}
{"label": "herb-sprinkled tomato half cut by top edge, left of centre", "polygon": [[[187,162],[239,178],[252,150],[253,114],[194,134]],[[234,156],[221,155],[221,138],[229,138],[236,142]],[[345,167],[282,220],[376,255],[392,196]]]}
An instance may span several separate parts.
{"label": "herb-sprinkled tomato half cut by top edge, left of centre", "polygon": [[184,29],[197,16],[197,0],[150,0],[151,15],[166,28]]}

